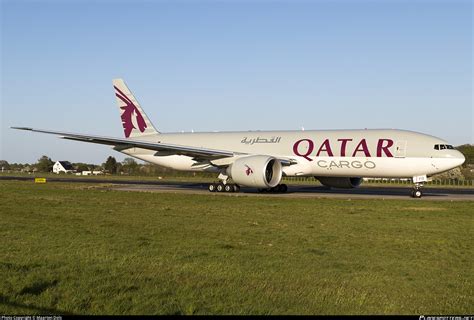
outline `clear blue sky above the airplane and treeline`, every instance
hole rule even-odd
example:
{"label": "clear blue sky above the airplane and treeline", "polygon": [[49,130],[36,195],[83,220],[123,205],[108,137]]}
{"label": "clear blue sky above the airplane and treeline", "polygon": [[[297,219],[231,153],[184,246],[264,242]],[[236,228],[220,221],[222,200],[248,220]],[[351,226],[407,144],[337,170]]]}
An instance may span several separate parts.
{"label": "clear blue sky above the airplane and treeline", "polygon": [[101,163],[122,77],[163,132],[400,128],[473,143],[471,1],[1,2],[0,159]]}

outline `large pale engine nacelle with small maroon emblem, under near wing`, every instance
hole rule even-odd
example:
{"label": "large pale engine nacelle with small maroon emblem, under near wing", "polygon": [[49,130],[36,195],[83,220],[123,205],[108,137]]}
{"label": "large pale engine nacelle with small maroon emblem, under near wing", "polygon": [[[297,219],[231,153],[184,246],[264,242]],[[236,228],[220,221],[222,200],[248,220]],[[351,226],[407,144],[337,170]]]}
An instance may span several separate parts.
{"label": "large pale engine nacelle with small maroon emblem, under near wing", "polygon": [[280,160],[269,156],[248,156],[235,160],[227,168],[227,174],[241,186],[273,188],[281,181]]}

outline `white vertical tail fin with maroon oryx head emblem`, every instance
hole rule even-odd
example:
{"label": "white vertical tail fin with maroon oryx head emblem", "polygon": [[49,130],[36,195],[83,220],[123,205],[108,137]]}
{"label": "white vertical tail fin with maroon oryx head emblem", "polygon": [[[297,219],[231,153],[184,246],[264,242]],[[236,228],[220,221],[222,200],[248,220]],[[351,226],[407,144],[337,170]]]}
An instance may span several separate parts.
{"label": "white vertical tail fin with maroon oryx head emblem", "polygon": [[137,99],[128,89],[122,79],[114,79],[114,90],[117,105],[122,118],[123,132],[126,138],[137,138],[140,136],[158,134],[150,119],[143,111]]}

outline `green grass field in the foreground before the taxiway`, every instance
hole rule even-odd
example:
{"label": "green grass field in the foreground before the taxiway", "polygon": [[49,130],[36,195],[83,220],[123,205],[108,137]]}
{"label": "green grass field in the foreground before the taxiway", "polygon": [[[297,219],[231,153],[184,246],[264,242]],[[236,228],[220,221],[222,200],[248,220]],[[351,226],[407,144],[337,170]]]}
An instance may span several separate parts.
{"label": "green grass field in the foreground before the taxiway", "polygon": [[0,181],[0,314],[472,314],[473,214]]}

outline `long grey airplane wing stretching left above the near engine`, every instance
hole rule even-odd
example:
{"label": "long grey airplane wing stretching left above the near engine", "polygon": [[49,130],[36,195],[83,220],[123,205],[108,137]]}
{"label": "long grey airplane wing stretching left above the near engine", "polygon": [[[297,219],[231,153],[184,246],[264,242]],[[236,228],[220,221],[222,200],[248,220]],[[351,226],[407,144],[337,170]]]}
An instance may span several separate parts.
{"label": "long grey airplane wing stretching left above the near engine", "polygon": [[[12,127],[12,129],[54,134],[54,135],[61,136],[61,138],[63,139],[74,140],[74,141],[105,144],[105,145],[114,146],[114,148],[117,150],[125,150],[128,148],[142,148],[142,149],[153,150],[157,152],[164,151],[170,155],[173,154],[173,155],[189,156],[189,157],[193,157],[199,160],[216,160],[216,159],[221,159],[221,158],[229,158],[229,157],[246,155],[246,153],[241,153],[241,152],[215,150],[215,149],[207,149],[207,148],[196,148],[196,147],[190,147],[190,146],[161,143],[159,141],[149,142],[149,141],[132,140],[132,139],[120,139],[120,138],[112,138],[112,137],[105,137],[105,136],[94,136],[94,135],[84,135],[84,134],[69,133],[69,132],[49,131],[49,130],[28,128],[28,127]],[[282,162],[283,165],[293,164],[291,160],[285,159],[285,158],[280,159],[280,161]]]}

